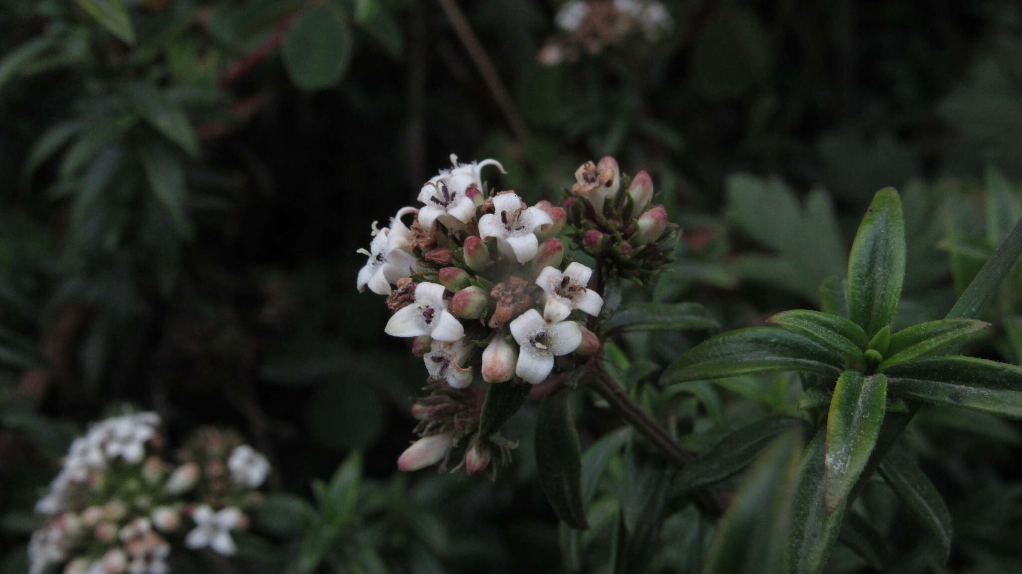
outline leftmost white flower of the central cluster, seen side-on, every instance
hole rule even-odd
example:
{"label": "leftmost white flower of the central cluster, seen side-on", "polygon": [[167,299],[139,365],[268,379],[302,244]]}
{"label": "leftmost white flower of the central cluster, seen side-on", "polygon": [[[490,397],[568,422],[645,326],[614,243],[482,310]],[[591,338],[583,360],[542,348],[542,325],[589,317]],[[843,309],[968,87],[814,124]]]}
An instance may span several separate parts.
{"label": "leftmost white flower of the central cluster, seen side-on", "polygon": [[369,290],[377,295],[389,295],[391,283],[408,277],[418,268],[411,251],[411,231],[401,221],[406,213],[416,211],[415,207],[403,207],[390,219],[388,228],[376,229],[376,222],[373,222],[373,241],[369,250],[358,250],[369,257],[366,266],[359,271],[359,292],[365,291],[368,285]]}

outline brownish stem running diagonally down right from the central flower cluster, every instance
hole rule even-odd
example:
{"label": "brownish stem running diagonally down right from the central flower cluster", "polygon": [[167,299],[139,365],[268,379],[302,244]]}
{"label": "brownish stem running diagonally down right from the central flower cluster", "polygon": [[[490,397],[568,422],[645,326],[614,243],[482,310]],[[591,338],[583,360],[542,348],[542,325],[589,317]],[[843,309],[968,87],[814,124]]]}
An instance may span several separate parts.
{"label": "brownish stem running diagonally down right from the central flower cluster", "polygon": [[[682,448],[660,425],[656,423],[636,401],[624,393],[609,375],[593,368],[588,377],[590,387],[602,396],[622,419],[628,421],[637,431],[648,438],[676,466],[684,467],[692,462],[694,457]],[[718,517],[724,514],[724,501],[710,490],[697,490],[693,499],[703,513]]]}

